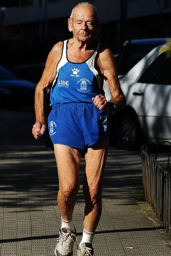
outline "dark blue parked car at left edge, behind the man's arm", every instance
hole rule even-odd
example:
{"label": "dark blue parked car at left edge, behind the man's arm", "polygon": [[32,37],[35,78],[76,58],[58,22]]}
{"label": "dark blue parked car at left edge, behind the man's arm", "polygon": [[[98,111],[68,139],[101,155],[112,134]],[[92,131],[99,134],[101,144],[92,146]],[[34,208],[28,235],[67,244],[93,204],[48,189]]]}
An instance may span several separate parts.
{"label": "dark blue parked car at left edge, behind the man's arm", "polygon": [[0,108],[33,108],[36,85],[18,79],[9,69],[0,66]]}

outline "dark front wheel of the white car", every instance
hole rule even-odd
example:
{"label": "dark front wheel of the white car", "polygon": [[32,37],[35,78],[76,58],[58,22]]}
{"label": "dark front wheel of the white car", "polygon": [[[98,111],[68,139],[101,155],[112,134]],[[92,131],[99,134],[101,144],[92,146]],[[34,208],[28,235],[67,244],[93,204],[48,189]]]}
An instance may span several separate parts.
{"label": "dark front wheel of the white car", "polygon": [[136,150],[139,145],[138,128],[130,118],[121,122],[118,146],[125,150]]}

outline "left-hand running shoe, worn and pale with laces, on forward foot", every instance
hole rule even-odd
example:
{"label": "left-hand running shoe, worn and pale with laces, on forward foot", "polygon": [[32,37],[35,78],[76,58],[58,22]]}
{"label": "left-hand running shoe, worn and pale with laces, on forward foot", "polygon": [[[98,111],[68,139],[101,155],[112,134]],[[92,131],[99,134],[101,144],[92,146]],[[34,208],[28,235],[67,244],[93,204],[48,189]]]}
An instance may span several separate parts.
{"label": "left-hand running shoe, worn and pale with laces, on forward foot", "polygon": [[76,241],[76,230],[71,231],[67,228],[59,230],[59,238],[55,248],[56,256],[73,256],[73,246]]}

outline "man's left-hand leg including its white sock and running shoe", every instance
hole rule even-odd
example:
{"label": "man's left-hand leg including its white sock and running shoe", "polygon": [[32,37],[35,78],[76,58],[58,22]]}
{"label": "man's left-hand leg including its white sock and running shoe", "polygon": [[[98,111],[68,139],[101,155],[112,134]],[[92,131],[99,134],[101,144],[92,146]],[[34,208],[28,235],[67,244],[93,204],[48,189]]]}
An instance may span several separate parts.
{"label": "man's left-hand leg including its white sock and running shoe", "polygon": [[59,176],[57,202],[62,217],[55,255],[73,255],[76,230],[72,222],[76,194],[79,189],[81,153],[69,146],[55,144],[55,158]]}

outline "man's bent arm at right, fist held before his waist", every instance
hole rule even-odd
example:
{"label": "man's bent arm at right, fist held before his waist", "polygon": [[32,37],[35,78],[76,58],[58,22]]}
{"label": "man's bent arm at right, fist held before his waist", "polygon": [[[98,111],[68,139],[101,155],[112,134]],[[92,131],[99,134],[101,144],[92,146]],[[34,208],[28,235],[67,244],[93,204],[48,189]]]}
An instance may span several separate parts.
{"label": "man's bent arm at right, fist held before his waist", "polygon": [[126,98],[123,95],[121,86],[119,84],[114,56],[108,48],[103,48],[97,58],[97,70],[104,77],[107,86],[112,93],[112,99],[107,102],[104,96],[97,95],[92,98],[93,103],[100,109],[105,111],[112,111],[112,104],[116,106],[116,110],[120,110],[126,105]]}

